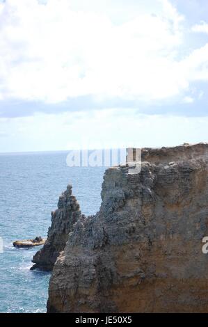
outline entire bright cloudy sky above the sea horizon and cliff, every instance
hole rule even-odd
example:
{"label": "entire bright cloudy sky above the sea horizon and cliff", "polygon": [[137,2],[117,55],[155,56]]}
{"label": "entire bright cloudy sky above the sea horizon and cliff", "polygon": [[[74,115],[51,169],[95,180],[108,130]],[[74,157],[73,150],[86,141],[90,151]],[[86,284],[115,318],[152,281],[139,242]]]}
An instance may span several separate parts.
{"label": "entire bright cloudy sky above the sea horizon and cliff", "polygon": [[0,152],[208,141],[207,0],[0,0]]}

